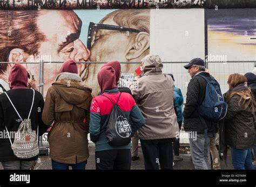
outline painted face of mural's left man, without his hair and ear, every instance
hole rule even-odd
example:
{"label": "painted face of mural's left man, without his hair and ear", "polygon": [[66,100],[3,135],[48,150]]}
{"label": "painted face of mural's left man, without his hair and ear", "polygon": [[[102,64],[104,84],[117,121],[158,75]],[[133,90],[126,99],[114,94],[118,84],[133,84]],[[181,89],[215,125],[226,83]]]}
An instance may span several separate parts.
{"label": "painted face of mural's left man, without his hair and ear", "polygon": [[[43,11],[38,17],[37,25],[46,36],[38,55],[49,54],[53,62],[64,62],[69,59],[82,62],[89,59],[90,51],[79,39],[82,21],[75,12]],[[78,74],[83,80],[88,73],[86,67],[87,64],[78,64]]]}

